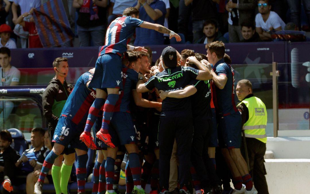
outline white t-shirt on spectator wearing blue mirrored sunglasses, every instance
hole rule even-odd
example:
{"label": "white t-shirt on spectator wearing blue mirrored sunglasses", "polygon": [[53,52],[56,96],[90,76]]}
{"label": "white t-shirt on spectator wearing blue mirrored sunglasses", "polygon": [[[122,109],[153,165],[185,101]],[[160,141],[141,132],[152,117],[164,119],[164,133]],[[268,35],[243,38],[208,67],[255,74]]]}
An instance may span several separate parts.
{"label": "white t-shirt on spectator wearing blue mirrored sunglasses", "polygon": [[262,14],[258,13],[255,16],[255,23],[256,23],[257,28],[260,27],[265,32],[268,32],[270,27],[272,27],[273,29],[276,29],[276,28],[279,28],[281,26],[282,30],[285,27],[284,21],[274,11],[270,11],[269,17],[266,20],[266,22],[264,22]]}

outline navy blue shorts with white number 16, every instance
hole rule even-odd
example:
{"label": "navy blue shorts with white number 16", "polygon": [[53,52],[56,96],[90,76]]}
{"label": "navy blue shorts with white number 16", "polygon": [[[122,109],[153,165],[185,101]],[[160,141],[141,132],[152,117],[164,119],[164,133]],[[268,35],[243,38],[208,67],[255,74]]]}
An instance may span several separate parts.
{"label": "navy blue shorts with white number 16", "polygon": [[67,147],[70,144],[73,148],[88,151],[85,143],[80,140],[80,135],[84,128],[85,123],[75,124],[67,117],[60,116],[52,141],[63,145],[64,147]]}

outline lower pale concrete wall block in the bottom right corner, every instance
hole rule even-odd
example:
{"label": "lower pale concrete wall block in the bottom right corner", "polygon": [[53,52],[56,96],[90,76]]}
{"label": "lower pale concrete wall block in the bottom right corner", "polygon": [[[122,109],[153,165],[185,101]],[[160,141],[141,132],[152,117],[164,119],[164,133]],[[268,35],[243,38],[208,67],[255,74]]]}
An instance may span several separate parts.
{"label": "lower pale concrete wall block in the bottom right corner", "polygon": [[310,193],[310,159],[266,159],[270,194]]}

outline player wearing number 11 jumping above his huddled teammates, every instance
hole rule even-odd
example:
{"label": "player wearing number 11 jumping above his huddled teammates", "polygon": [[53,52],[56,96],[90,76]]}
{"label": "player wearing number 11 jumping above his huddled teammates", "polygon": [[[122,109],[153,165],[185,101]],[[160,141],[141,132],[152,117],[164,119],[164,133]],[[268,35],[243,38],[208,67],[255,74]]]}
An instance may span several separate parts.
{"label": "player wearing number 11 jumping above his huddled teammates", "polygon": [[[178,34],[175,34],[164,26],[145,22],[138,18],[139,10],[134,7],[128,7],[124,10],[123,16],[115,19],[107,29],[105,46],[100,50],[95,66],[95,74],[89,84],[91,88],[96,88],[96,99],[89,110],[84,132],[80,136],[87,147],[94,147],[90,131],[95,121],[96,112],[98,112],[103,105],[102,127],[96,136],[110,147],[115,147],[113,143],[111,143],[108,127],[112,120],[114,106],[119,98],[118,91],[123,89],[121,57],[127,49],[146,52],[144,47],[127,45],[128,39],[135,32],[135,28],[153,29],[164,34],[169,34],[170,38],[175,37],[177,41],[181,41]],[[105,102],[103,88],[106,88],[108,92],[108,97]]]}

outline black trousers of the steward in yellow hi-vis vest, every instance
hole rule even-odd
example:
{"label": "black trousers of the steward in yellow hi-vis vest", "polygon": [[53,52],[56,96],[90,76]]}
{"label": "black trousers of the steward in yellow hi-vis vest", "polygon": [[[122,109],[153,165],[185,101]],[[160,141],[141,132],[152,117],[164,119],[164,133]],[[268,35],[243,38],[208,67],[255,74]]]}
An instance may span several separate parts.
{"label": "black trousers of the steward in yellow hi-vis vest", "polygon": [[[246,138],[246,147],[249,156],[250,175],[252,177],[254,186],[258,193],[268,194],[268,185],[265,177],[267,172],[264,165],[266,143],[263,143],[255,138]],[[241,145],[241,153],[246,160],[243,141]]]}

